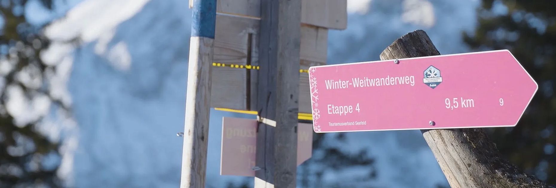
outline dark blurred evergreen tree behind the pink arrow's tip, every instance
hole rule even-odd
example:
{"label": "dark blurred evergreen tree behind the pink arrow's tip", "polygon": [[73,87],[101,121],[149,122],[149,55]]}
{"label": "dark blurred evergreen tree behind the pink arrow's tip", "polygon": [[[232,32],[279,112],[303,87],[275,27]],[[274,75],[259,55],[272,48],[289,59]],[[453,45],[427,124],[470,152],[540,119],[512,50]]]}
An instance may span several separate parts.
{"label": "dark blurred evergreen tree behind the pink arrow's tip", "polygon": [[[556,184],[556,1],[484,0],[474,33],[464,40],[474,50],[508,49],[539,84],[515,128],[492,129],[508,159],[529,174]],[[515,85],[515,89],[519,89]]]}

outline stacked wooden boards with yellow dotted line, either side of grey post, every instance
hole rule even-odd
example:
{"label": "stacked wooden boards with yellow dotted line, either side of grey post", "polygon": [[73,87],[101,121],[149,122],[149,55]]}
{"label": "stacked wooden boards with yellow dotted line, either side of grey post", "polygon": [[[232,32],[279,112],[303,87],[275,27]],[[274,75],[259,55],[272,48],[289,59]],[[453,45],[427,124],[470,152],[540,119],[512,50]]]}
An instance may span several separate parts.
{"label": "stacked wooden boards with yellow dotted line, either side of grey post", "polygon": [[[307,69],[326,64],[328,29],[346,28],[347,2],[302,0],[300,6],[299,112],[310,114]],[[216,9],[211,107],[257,111],[261,0],[219,0]]]}

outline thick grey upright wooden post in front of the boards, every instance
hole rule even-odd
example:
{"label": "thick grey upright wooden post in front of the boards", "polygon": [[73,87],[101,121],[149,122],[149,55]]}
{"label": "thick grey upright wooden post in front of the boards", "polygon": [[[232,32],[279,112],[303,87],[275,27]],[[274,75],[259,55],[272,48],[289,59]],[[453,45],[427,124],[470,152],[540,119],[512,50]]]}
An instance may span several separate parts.
{"label": "thick grey upright wooden post in front of the boards", "polygon": [[301,1],[261,1],[255,187],[295,187]]}

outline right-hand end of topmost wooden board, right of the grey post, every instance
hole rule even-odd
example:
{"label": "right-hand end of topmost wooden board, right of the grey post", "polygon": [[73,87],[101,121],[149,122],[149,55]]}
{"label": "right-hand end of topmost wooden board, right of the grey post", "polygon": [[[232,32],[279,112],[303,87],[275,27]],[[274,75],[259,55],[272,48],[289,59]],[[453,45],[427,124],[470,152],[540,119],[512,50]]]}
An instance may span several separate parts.
{"label": "right-hand end of topmost wooden board, right of the grey post", "polygon": [[301,2],[301,23],[330,29],[347,27],[346,0],[304,0]]}

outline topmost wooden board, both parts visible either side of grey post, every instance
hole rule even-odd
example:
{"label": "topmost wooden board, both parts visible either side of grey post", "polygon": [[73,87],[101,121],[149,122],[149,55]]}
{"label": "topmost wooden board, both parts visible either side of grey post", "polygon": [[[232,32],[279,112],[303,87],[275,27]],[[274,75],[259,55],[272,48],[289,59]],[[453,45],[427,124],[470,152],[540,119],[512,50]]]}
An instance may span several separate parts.
{"label": "topmost wooden board, both parts visible either side of grey post", "polygon": [[[260,0],[219,0],[216,11],[260,18],[260,3]],[[345,29],[347,0],[302,0],[301,23],[330,29]]]}

